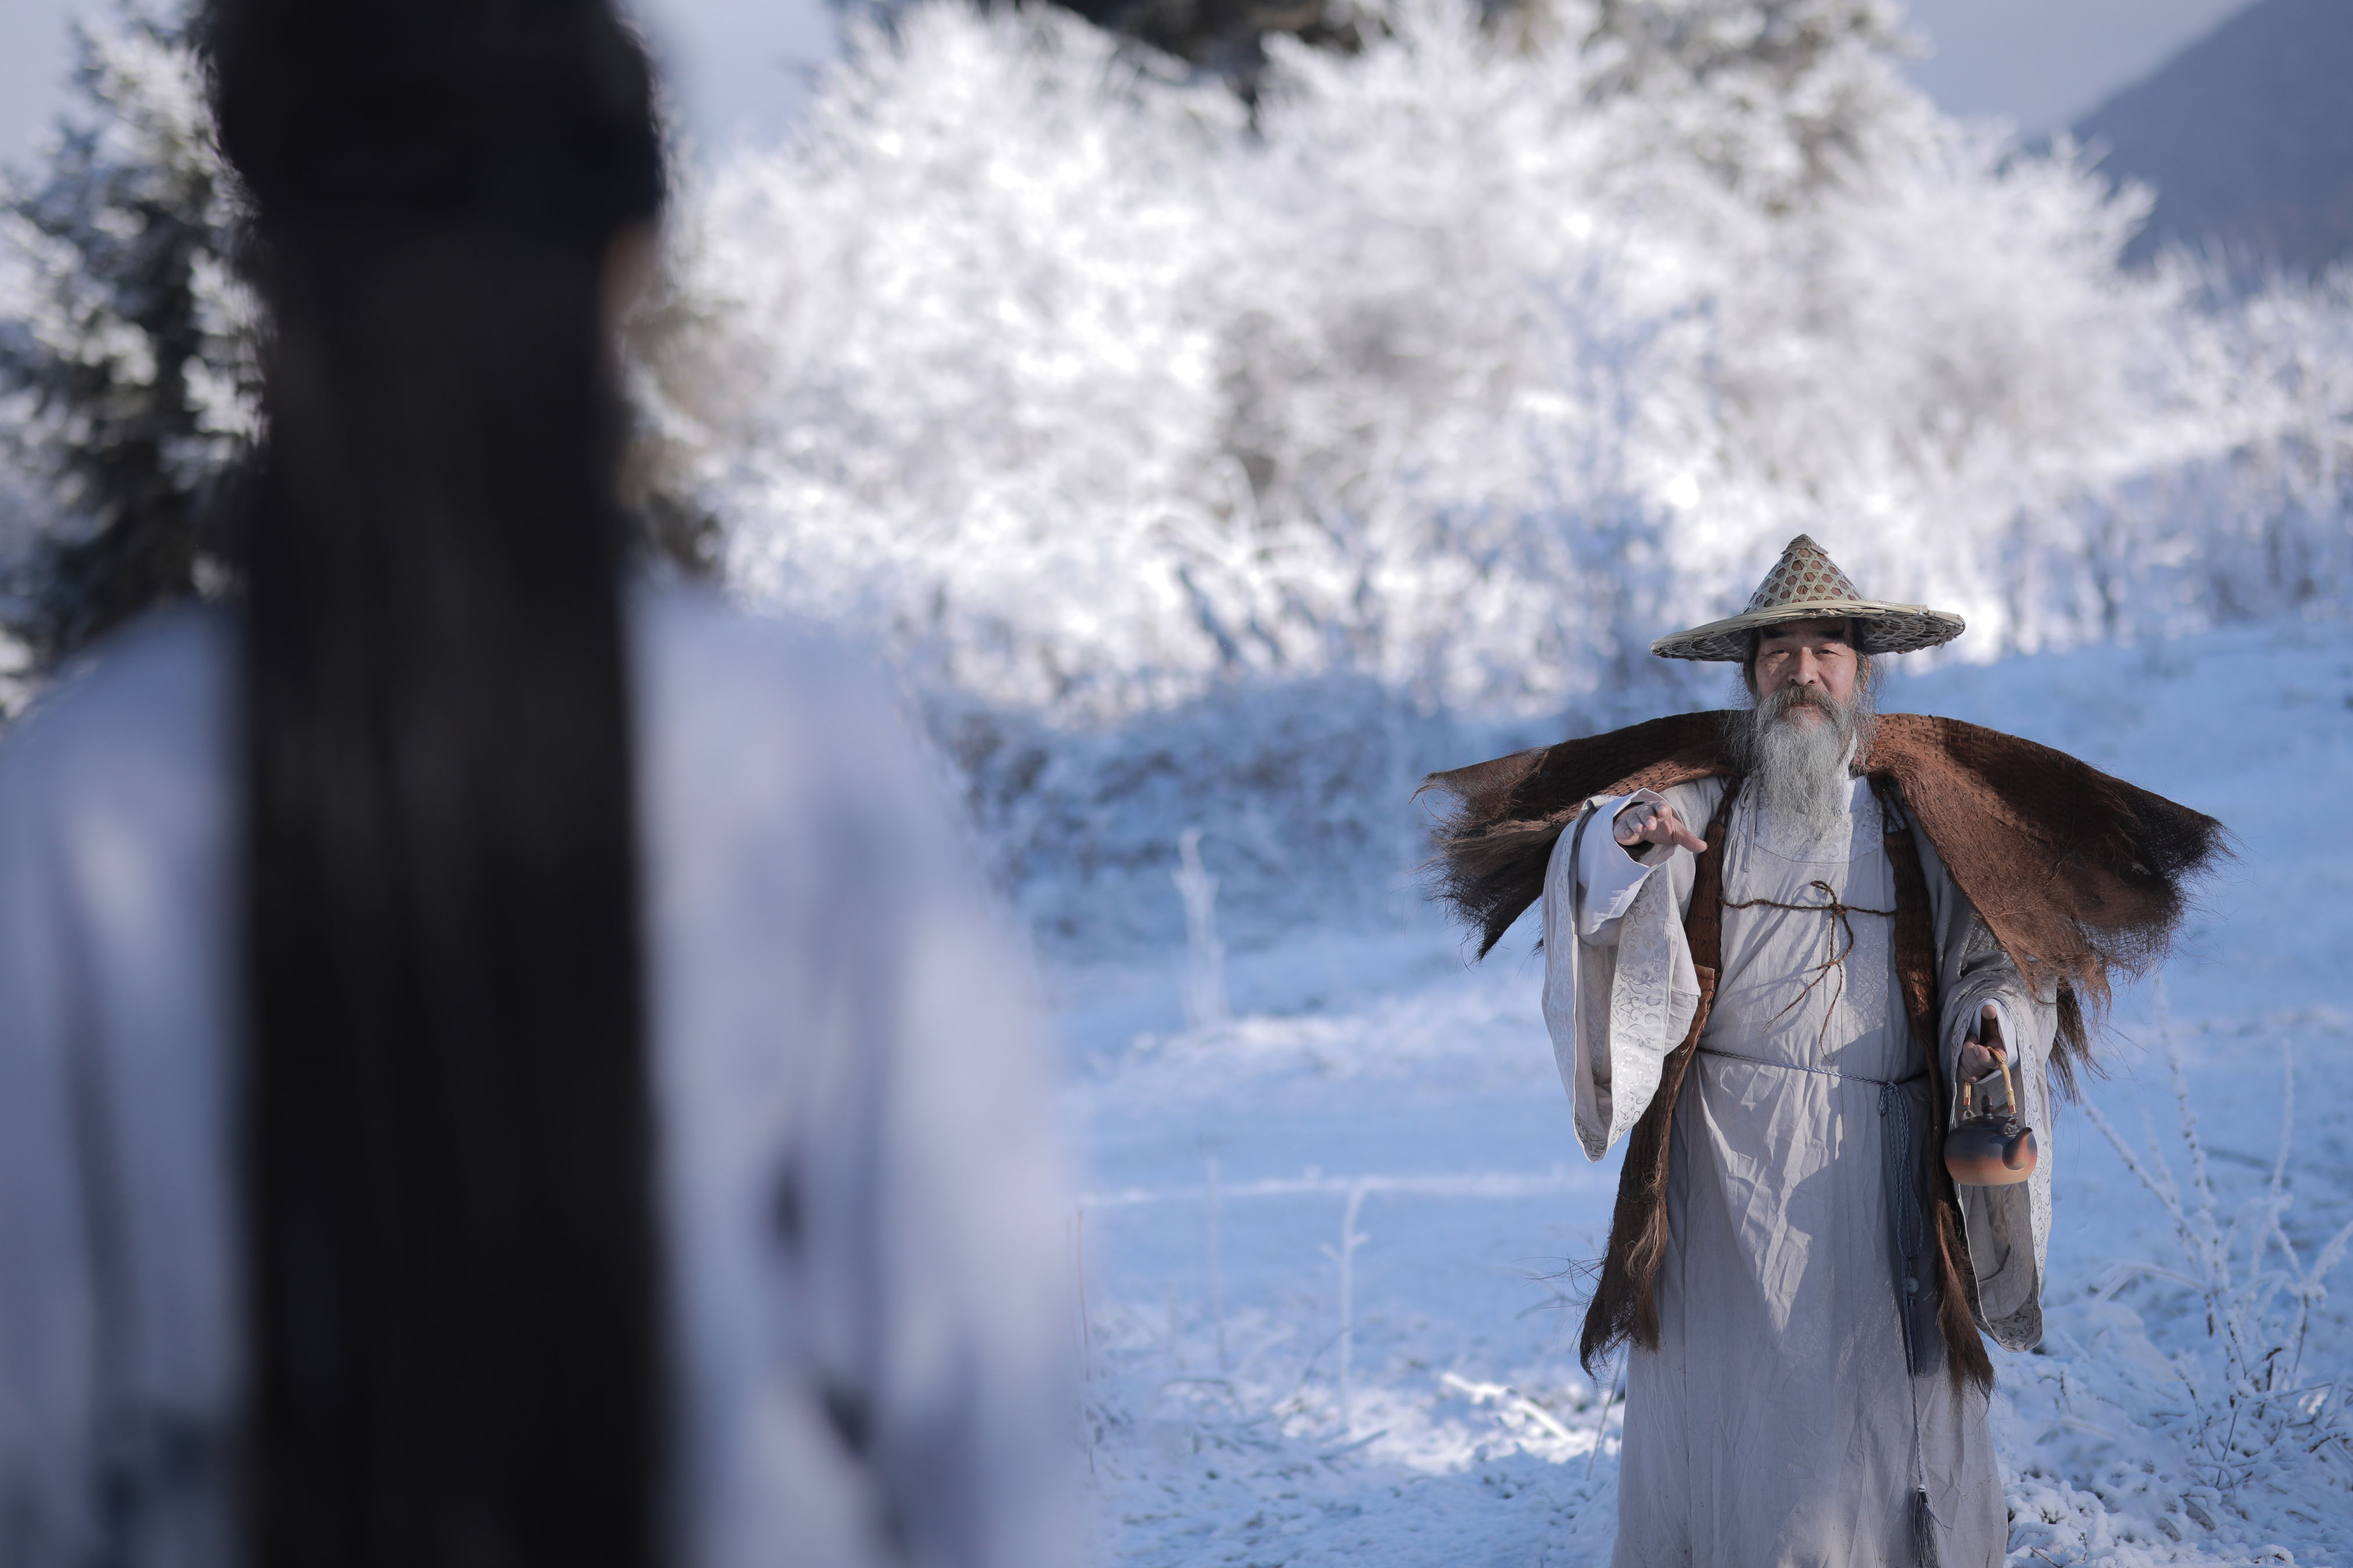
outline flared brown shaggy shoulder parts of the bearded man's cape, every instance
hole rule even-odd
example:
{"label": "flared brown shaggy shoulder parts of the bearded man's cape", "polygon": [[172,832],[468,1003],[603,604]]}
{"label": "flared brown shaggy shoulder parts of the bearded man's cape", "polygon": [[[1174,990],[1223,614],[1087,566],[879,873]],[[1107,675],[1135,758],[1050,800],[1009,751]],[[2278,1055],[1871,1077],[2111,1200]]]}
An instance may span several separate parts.
{"label": "flared brown shaggy shoulder parts of the bearded man's cape", "polygon": [[[1544,745],[1447,773],[1435,896],[1480,933],[1480,957],[1544,893],[1544,867],[1595,795],[1732,773],[1734,712],[1687,712]],[[2188,882],[2226,851],[2224,825],[2066,752],[1960,719],[1878,717],[1864,771],[1894,783],[2019,976],[2059,1009],[2052,1070],[2089,1065],[2085,1011],[2108,971],[2165,957]]]}

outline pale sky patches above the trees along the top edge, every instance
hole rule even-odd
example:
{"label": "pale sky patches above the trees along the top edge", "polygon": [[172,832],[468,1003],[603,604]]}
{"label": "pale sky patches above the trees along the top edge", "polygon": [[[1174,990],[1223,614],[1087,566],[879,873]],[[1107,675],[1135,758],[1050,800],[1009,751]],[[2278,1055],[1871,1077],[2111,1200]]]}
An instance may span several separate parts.
{"label": "pale sky patches above the trees along the top edge", "polygon": [[[113,0],[0,0],[0,160],[31,158],[71,66],[66,21]],[[1913,0],[1932,54],[1913,66],[1948,110],[2026,132],[2080,115],[2245,0]],[[704,148],[791,125],[833,49],[824,0],[633,0]]]}

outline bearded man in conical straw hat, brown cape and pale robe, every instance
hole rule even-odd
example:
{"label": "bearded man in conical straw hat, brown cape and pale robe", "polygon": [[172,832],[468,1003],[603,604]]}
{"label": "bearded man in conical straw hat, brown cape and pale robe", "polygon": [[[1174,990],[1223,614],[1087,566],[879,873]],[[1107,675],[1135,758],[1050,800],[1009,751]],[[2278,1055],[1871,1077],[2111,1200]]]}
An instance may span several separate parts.
{"label": "bearded man in conical straw hat, brown cape and pale robe", "polygon": [[1744,614],[1652,644],[1739,661],[1753,708],[1431,780],[1480,952],[1544,898],[1579,1143],[1631,1133],[1581,1347],[1628,1345],[1619,1568],[2007,1556],[1979,1335],[2042,1338],[2049,1074],[2221,825],[1878,717],[1871,656],[1960,630],[1800,536]]}

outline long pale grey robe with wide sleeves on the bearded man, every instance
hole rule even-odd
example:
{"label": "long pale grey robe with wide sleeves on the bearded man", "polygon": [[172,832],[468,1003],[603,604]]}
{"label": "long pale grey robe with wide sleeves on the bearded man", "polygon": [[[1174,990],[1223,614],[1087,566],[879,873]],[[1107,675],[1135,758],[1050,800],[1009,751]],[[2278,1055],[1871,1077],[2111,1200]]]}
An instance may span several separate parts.
{"label": "long pale grey robe with wide sleeves on the bearded man", "polygon": [[[1666,799],[1697,830],[1722,788],[1708,778]],[[1593,802],[1586,825],[1609,823],[1621,804]],[[1925,837],[1915,842],[1946,1081],[1979,1009],[1998,1004],[2024,1063],[2024,1114],[2045,1147],[2031,1182],[1960,1190],[1981,1324],[2028,1347],[2042,1333],[2054,1013],[2021,985]],[[1544,1011],[1593,1159],[1649,1107],[1697,1009],[1682,936],[1692,877],[1689,851],[1652,849],[1638,867],[1607,830],[1562,835],[1553,853]],[[1824,907],[1824,889],[1845,914]],[[1732,907],[1755,900],[1767,903]],[[1913,1197],[1932,1107],[1901,1004],[1894,877],[1868,785],[1852,780],[1847,818],[1826,837],[1774,823],[1755,795],[1737,802],[1725,905],[1715,1001],[1675,1105],[1661,1342],[1626,1366],[1614,1561],[2000,1563],[2007,1516],[1986,1396],[1955,1389],[1922,1342],[1934,1316],[1904,1312],[1904,1253],[1918,1279],[1920,1248],[1934,1248]]]}

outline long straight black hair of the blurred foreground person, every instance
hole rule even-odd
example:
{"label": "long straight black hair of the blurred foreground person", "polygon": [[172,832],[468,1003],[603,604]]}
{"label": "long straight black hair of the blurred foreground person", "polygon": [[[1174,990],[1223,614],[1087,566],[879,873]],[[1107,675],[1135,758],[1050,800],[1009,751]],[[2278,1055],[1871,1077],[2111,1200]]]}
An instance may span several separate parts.
{"label": "long straight black hair of the blurred foreground person", "polygon": [[261,1568],[661,1556],[602,0],[212,0],[268,454],[245,609]]}

